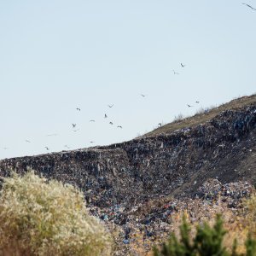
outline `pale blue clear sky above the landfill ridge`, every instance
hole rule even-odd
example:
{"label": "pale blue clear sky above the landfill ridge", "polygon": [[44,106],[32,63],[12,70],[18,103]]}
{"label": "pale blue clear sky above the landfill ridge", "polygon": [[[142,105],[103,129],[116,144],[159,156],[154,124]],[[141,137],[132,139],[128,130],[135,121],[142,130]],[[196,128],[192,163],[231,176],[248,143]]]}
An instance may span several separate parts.
{"label": "pale blue clear sky above the landfill ridge", "polygon": [[0,160],[121,143],[256,92],[256,11],[236,0],[0,0],[0,35]]}

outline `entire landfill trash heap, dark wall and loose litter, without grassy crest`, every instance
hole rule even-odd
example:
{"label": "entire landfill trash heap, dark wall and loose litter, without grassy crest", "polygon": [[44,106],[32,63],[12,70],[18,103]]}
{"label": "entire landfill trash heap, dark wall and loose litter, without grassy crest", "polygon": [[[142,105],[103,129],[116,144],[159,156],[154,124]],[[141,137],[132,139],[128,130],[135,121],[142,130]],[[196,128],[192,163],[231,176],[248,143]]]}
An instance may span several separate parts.
{"label": "entire landfill trash heap, dark wall and loose litter, without grassy crest", "polygon": [[0,175],[32,168],[79,187],[93,215],[120,227],[119,244],[130,250],[131,237],[141,234],[148,250],[148,241],[169,233],[173,212],[186,210],[197,220],[208,216],[212,205],[224,211],[219,198],[225,207],[236,208],[250,195],[256,183],[255,137],[252,103],[158,136],[0,160]]}

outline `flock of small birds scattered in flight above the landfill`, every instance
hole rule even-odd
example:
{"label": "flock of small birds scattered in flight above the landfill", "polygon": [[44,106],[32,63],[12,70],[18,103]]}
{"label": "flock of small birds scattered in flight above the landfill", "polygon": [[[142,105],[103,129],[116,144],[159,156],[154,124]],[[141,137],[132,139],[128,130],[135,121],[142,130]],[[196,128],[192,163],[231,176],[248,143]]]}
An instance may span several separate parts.
{"label": "flock of small birds scattered in flight above the landfill", "polygon": [[[241,4],[246,5],[249,9],[252,9],[252,10],[256,11],[256,9],[253,8],[253,6],[251,6],[251,5],[248,4],[248,3],[241,3]],[[186,65],[184,65],[183,63],[180,63],[180,65],[181,65],[182,68],[183,68],[183,67],[186,67]],[[172,72],[173,72],[174,75],[179,75],[179,73],[177,73],[177,71],[174,70],[174,69],[172,69]],[[147,95],[141,94],[140,96],[146,97]],[[200,103],[199,101],[196,101],[196,102],[195,102],[195,104],[199,104],[199,103]],[[190,105],[190,104],[187,104],[187,106],[188,106],[188,108],[195,107],[195,106],[192,106],[192,105]],[[108,105],[108,108],[113,108],[113,104],[112,104],[112,105]],[[76,110],[77,110],[77,111],[81,111],[81,108],[76,108]],[[104,119],[108,119],[107,113],[105,113]],[[96,122],[96,120],[95,120],[95,119],[90,119],[90,122]],[[112,121],[109,121],[109,125],[113,125],[113,122],[112,122]],[[159,123],[158,126],[161,127],[161,126],[162,126],[162,123]],[[73,128],[73,131],[74,131],[74,132],[79,131],[79,129],[76,129],[76,127],[77,127],[77,124],[72,124],[72,128]],[[122,125],[117,125],[117,128],[122,129],[123,127],[122,127]],[[53,134],[48,134],[47,136],[48,136],[48,137],[52,137],[52,136],[57,136],[57,134],[56,134],[56,133],[53,133]],[[32,142],[31,142],[30,140],[28,140],[28,139],[26,139],[25,142],[26,142],[26,143],[32,143]],[[94,142],[94,141],[90,141],[90,143],[95,143],[95,142]],[[45,146],[44,148],[49,151],[49,147]],[[68,145],[65,145],[64,148],[70,148],[70,147],[69,147]],[[7,150],[7,149],[9,149],[9,148],[4,147],[3,149],[4,149],[4,150]]]}

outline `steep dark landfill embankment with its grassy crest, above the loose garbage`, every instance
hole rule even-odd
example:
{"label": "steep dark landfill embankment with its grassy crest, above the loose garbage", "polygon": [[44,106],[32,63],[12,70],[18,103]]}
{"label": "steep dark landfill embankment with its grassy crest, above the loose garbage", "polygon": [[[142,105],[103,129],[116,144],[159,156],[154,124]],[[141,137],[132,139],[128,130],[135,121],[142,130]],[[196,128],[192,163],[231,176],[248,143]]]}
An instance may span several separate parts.
{"label": "steep dark landfill embankment with its grassy crest, above the loose garbage", "polygon": [[193,194],[209,177],[256,182],[255,136],[256,96],[242,97],[126,143],[1,160],[0,173],[32,168],[76,184],[93,205],[131,207]]}

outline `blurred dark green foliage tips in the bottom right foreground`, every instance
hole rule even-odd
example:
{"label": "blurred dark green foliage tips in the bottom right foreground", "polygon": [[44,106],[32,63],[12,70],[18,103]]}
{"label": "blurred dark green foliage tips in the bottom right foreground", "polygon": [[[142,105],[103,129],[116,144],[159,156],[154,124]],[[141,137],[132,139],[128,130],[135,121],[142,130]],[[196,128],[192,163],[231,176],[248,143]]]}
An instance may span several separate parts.
{"label": "blurred dark green foliage tips in the bottom right foreground", "polygon": [[[236,253],[237,241],[233,242],[231,253],[223,247],[223,239],[226,231],[223,228],[223,220],[220,215],[211,227],[204,223],[196,229],[195,238],[191,238],[190,227],[183,217],[183,224],[180,226],[180,239],[174,233],[164,243],[160,250],[153,248],[154,256],[241,256]],[[249,234],[245,243],[247,253],[245,256],[256,256],[256,241]]]}

